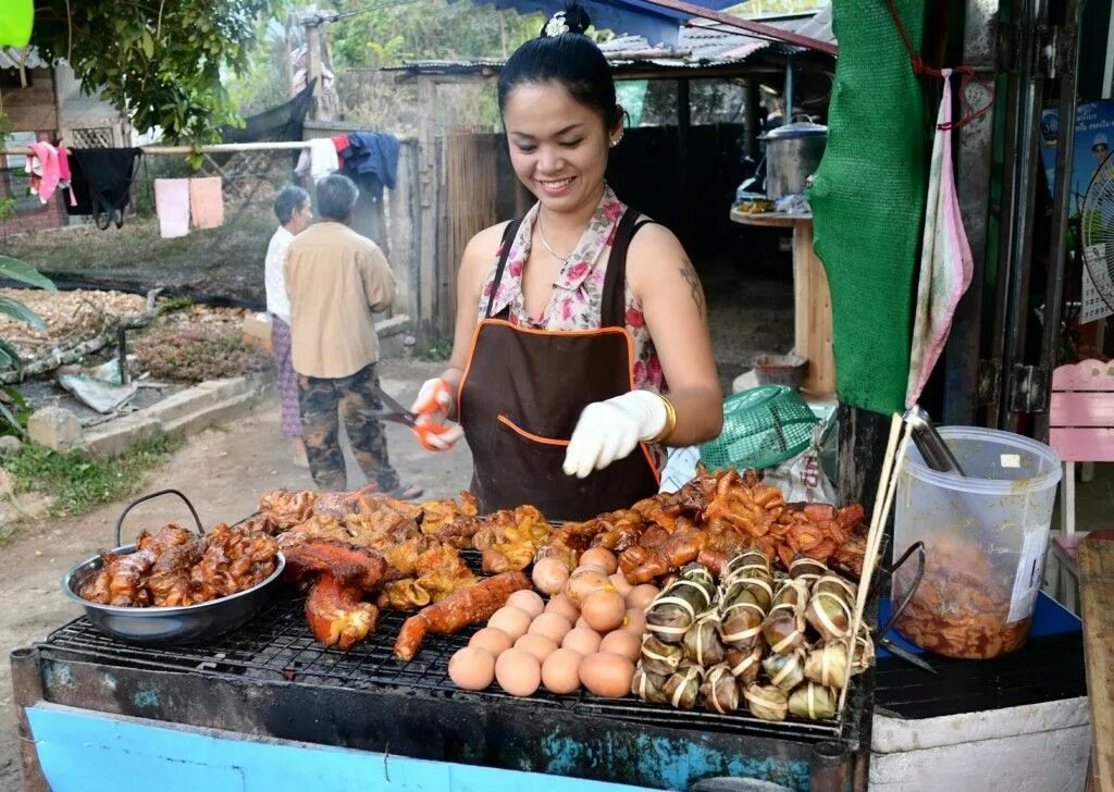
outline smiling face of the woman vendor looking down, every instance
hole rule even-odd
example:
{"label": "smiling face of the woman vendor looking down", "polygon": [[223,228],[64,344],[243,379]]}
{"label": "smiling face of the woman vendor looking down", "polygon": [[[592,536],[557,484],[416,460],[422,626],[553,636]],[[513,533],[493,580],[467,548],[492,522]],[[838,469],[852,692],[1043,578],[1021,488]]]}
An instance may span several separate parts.
{"label": "smiling face of the woman vendor looking down", "polygon": [[544,207],[573,212],[598,201],[617,128],[608,130],[599,114],[559,82],[517,86],[502,119],[515,174]]}

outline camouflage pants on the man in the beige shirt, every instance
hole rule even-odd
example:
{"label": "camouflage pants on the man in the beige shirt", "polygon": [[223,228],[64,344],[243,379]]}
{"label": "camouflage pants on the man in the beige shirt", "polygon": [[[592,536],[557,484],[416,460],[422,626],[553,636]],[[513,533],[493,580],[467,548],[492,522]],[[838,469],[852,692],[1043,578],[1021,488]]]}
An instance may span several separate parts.
{"label": "camouflage pants on the man in the beige shirt", "polygon": [[375,364],[364,366],[351,377],[297,377],[301,394],[302,439],[310,459],[313,481],[322,490],[346,490],[344,454],[336,437],[338,411],[352,446],[352,454],[369,481],[380,491],[399,487],[399,475],[387,458],[387,432],[374,413],[383,405],[372,391],[379,387]]}

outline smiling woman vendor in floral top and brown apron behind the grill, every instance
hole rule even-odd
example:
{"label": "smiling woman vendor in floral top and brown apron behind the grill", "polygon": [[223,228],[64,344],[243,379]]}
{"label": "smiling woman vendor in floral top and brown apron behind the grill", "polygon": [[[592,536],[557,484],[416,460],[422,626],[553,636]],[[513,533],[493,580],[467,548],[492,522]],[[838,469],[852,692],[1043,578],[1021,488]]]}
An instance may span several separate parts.
{"label": "smiling woman vendor in floral top and brown apron behind the grill", "polygon": [[481,514],[625,508],[657,491],[663,447],[723,422],[696,272],[604,179],[624,113],[588,25],[576,6],[558,12],[499,76],[510,159],[537,203],[468,243],[452,358],[413,407],[437,424],[428,448],[466,438]]}

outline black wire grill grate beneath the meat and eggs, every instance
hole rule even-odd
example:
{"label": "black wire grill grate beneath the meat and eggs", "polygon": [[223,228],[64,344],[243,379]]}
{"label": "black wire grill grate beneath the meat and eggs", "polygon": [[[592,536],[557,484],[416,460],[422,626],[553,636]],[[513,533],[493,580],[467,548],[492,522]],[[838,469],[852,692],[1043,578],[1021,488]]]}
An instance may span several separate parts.
{"label": "black wire grill grate beneath the meat and eggs", "polygon": [[[530,698],[507,695],[497,685],[479,693],[465,692],[449,679],[449,658],[468,643],[478,626],[457,635],[430,635],[414,659],[401,663],[394,658],[392,649],[405,614],[385,612],[378,632],[345,653],[313,639],[303,615],[303,603],[302,598],[280,597],[244,627],[202,645],[128,644],[104,635],[81,617],[51,633],[41,648],[47,654],[77,655],[81,659],[115,667],[234,676],[268,683],[297,682],[362,691],[384,686],[405,687],[452,697],[473,696],[492,703],[501,702],[506,706],[527,706],[539,711],[559,708],[627,724],[805,742],[833,740],[840,734],[840,722],[837,720],[770,723],[752,716],[746,710],[730,715],[703,710],[683,712],[631,697],[600,698],[584,691],[555,696],[540,690]],[[847,714],[854,717],[851,707],[848,707]]]}

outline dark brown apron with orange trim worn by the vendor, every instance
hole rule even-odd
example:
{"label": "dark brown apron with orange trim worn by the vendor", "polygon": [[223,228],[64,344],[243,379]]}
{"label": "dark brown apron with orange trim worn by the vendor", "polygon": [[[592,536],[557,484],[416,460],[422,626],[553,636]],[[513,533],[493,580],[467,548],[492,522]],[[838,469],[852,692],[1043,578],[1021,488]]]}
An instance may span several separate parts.
{"label": "dark brown apron with orange trim worn by the vendor", "polygon": [[491,315],[519,221],[508,224],[485,319],[460,383],[460,423],[472,451],[480,514],[532,505],[551,520],[584,520],[658,490],[645,443],[587,478],[566,476],[568,439],[585,407],[634,389],[626,329],[626,256],[641,225],[627,209],[607,262],[598,330],[547,331]]}

